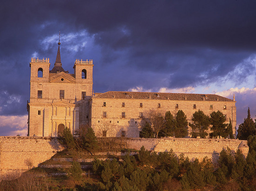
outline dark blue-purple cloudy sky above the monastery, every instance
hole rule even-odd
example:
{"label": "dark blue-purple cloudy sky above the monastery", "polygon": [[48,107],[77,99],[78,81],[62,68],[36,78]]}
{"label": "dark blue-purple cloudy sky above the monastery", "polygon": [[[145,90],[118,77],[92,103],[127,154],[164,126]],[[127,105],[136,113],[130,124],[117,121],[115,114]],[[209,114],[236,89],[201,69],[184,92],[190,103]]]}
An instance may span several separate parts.
{"label": "dark blue-purple cloudy sky above the monastery", "polygon": [[0,135],[27,135],[29,62],[93,59],[94,92],[236,96],[256,115],[255,0],[5,0],[0,6]]}

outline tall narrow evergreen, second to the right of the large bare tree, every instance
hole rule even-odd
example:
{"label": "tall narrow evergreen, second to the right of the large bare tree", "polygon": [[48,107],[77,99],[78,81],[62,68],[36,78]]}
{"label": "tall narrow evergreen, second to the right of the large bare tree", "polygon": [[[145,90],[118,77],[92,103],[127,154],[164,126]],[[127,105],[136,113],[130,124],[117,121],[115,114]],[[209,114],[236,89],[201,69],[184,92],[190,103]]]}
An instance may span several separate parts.
{"label": "tall narrow evergreen, second to the right of the large bare tree", "polygon": [[186,137],[188,133],[187,116],[182,110],[179,110],[176,115],[177,128],[175,129],[175,137]]}

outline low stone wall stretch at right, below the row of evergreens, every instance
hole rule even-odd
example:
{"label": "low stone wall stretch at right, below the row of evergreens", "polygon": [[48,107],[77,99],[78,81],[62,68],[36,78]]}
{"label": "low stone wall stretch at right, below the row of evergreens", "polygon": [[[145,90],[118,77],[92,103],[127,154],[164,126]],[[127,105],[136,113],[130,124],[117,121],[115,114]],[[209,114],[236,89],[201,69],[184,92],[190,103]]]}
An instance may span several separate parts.
{"label": "low stone wall stretch at right, below the row of evergreens", "polygon": [[140,149],[143,145],[146,150],[165,152],[171,149],[175,154],[184,154],[189,159],[203,159],[205,156],[216,163],[222,149],[231,149],[236,152],[240,149],[246,157],[249,152],[247,140],[236,139],[192,139],[192,138],[164,138],[164,139],[128,139],[128,148]]}

